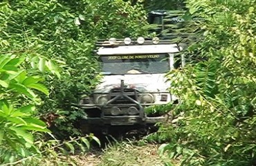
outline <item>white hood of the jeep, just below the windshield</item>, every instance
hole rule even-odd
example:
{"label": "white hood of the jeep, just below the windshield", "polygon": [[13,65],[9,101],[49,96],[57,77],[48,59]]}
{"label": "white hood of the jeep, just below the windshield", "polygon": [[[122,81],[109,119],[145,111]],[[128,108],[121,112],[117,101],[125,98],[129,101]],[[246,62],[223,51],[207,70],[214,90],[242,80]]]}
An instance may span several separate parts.
{"label": "white hood of the jeep, just below the windshield", "polygon": [[170,87],[165,74],[127,74],[127,75],[104,75],[95,93],[108,93],[113,88],[119,88],[121,80],[125,87],[138,89],[138,91],[166,92]]}

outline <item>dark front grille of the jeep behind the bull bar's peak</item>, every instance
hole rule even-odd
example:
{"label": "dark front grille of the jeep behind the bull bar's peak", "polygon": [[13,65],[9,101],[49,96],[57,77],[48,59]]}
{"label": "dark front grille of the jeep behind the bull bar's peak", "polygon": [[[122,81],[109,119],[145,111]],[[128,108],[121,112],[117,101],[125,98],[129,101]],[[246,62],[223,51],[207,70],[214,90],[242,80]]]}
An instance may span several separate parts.
{"label": "dark front grille of the jeep behind the bull bar's peak", "polygon": [[[120,95],[120,94],[121,94],[121,89],[120,88],[112,89],[111,92],[110,92],[110,98],[113,99],[117,95]],[[138,99],[136,89],[124,89],[124,94],[128,95],[129,98],[132,98],[136,101]],[[114,100],[113,102],[111,102],[111,104],[134,104],[134,102],[132,102],[128,98],[124,97],[124,98],[118,98],[117,100]]]}

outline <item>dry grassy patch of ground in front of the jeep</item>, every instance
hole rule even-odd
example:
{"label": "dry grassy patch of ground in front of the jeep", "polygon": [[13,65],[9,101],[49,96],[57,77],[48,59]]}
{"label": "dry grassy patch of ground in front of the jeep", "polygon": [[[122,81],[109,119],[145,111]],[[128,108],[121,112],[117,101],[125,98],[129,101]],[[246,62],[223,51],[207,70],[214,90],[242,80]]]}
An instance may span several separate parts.
{"label": "dry grassy patch of ground in front of the jeep", "polygon": [[91,151],[85,156],[73,156],[78,165],[115,166],[115,165],[149,165],[161,166],[167,161],[158,156],[159,145],[136,145],[134,142],[115,142],[107,145],[102,151]]}

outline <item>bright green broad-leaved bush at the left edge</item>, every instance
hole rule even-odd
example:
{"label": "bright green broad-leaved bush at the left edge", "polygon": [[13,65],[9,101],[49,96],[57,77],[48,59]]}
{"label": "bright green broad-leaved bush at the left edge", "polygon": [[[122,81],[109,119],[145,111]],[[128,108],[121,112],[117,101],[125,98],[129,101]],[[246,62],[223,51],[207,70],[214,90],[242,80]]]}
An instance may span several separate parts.
{"label": "bright green broad-leaved bush at the left edge", "polygon": [[48,132],[46,124],[34,118],[35,104],[40,103],[35,90],[48,95],[48,89],[40,77],[28,76],[20,67],[24,59],[0,55],[0,163],[39,153],[33,133]]}

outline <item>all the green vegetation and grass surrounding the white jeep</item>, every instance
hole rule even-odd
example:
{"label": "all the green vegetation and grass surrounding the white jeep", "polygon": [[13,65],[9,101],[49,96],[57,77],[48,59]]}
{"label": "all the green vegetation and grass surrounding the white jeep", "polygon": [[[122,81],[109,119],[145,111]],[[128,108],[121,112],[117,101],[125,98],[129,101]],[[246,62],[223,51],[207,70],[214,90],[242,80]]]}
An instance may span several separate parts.
{"label": "all the green vegetation and grass surrounding the white jeep", "polygon": [[152,9],[188,10],[186,18],[201,18],[184,28],[198,37],[183,51],[186,66],[167,74],[180,102],[161,109],[173,117],[156,133],[112,142],[92,165],[255,165],[255,3],[1,1],[0,165],[89,160],[91,144],[100,140],[75,128],[86,114],[74,103],[77,92],[91,91],[100,80],[91,53],[95,40],[147,36],[145,10]]}

